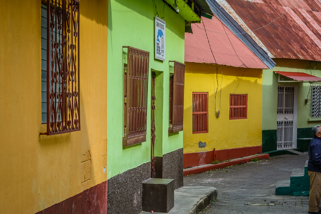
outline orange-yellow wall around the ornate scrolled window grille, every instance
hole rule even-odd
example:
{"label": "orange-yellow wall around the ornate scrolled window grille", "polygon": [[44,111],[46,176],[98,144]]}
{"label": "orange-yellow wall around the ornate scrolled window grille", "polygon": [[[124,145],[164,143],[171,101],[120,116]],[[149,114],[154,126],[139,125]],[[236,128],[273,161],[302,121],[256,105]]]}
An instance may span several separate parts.
{"label": "orange-yellow wall around the ornate scrolled window grille", "polygon": [[54,136],[39,136],[40,5],[0,1],[0,213],[35,213],[107,180],[108,1],[81,1],[82,126]]}

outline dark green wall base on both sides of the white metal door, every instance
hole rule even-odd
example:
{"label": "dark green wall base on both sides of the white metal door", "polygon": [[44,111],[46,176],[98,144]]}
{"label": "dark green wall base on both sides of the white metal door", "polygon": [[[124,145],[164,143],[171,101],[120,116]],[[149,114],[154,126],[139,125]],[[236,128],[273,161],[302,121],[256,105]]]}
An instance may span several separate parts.
{"label": "dark green wall base on both sides of the white metal door", "polygon": [[[298,128],[297,129],[297,148],[300,152],[308,151],[308,147],[311,139],[313,138],[312,127],[310,128]],[[276,155],[283,155],[282,151],[277,150],[277,132],[276,129],[262,130],[262,153],[269,153],[270,157]],[[285,154],[285,153],[284,153]]]}

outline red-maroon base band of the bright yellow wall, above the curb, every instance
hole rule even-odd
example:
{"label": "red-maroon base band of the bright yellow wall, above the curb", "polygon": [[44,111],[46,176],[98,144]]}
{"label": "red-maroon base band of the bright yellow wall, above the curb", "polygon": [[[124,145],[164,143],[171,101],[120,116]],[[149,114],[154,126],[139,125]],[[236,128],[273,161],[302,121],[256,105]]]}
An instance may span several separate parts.
{"label": "red-maroon base band of the bright yellow wall, above the curb", "polygon": [[210,164],[215,158],[219,161],[247,157],[262,152],[262,146],[241,147],[225,150],[184,153],[183,167],[196,167]]}

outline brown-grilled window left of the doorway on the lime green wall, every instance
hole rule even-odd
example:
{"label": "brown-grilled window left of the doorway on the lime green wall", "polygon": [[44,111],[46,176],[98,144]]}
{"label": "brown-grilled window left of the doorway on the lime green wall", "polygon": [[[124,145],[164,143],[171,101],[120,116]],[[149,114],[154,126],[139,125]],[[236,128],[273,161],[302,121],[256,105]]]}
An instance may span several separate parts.
{"label": "brown-grilled window left of the doorway on the lime green wall", "polygon": [[149,52],[126,48],[123,146],[130,146],[146,141]]}

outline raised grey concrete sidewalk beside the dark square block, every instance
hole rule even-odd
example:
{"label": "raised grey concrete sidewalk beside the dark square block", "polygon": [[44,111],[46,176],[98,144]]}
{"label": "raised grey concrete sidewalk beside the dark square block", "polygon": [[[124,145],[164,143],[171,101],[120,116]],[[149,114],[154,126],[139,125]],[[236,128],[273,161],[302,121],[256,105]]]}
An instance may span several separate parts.
{"label": "raised grey concrete sidewalk beside the dark square block", "polygon": [[[217,197],[215,187],[209,186],[184,186],[174,192],[174,207],[170,214],[195,214],[199,213]],[[150,212],[142,212],[150,213]],[[163,214],[163,213],[158,213]]]}

